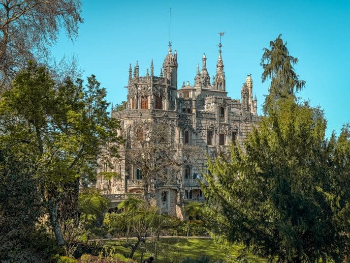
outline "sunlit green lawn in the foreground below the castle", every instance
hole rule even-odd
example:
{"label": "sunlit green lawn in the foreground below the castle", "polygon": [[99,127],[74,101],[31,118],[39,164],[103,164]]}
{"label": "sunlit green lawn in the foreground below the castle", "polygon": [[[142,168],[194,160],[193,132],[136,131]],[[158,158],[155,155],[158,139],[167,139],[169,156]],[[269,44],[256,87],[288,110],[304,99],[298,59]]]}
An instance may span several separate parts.
{"label": "sunlit green lawn in the foreground below the castle", "polygon": [[[120,246],[122,243],[124,241],[108,241],[107,246],[115,249],[115,252],[127,255],[130,252],[130,248]],[[242,246],[236,245],[232,246],[231,251],[224,251],[216,247],[211,239],[161,238],[160,241],[149,239],[137,249],[135,258],[140,261],[141,253],[143,253],[143,259],[153,255],[155,257],[153,262],[155,263],[173,263],[179,262],[184,257],[196,258],[207,255],[211,261],[226,259],[229,262],[228,258],[237,256],[241,248]],[[249,254],[248,262],[266,262],[266,260]]]}

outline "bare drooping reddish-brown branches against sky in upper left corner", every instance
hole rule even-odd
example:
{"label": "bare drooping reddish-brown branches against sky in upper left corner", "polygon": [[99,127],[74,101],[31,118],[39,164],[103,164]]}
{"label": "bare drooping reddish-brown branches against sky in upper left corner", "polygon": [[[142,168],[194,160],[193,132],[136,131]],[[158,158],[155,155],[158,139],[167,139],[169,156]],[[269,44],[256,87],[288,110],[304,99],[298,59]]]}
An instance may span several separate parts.
{"label": "bare drooping reddish-brown branches against sky in upper left corner", "polygon": [[0,0],[0,92],[28,60],[48,53],[61,28],[75,38],[80,13],[80,0]]}

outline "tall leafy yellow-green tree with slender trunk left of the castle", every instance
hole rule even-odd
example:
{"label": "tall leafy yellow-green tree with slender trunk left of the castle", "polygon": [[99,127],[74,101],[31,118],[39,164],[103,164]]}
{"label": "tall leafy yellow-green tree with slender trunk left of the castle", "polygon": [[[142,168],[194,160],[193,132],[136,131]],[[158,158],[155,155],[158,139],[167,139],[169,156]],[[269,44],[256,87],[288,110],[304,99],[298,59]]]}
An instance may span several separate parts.
{"label": "tall leafy yellow-green tree with slender trunk left of the castle", "polygon": [[[64,241],[57,212],[63,219],[78,215],[79,180],[93,179],[98,157],[116,157],[122,141],[105,96],[93,75],[85,87],[82,80],[74,84],[70,79],[56,86],[44,67],[29,63],[0,102],[0,144],[11,145],[35,166],[59,245]],[[71,211],[65,210],[65,203],[71,204]]]}

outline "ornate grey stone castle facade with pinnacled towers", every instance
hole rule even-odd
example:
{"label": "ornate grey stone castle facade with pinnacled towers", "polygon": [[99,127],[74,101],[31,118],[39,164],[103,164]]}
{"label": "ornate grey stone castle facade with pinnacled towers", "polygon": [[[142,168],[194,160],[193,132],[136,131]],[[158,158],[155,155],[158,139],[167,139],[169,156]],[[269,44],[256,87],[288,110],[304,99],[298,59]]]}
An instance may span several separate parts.
{"label": "ornate grey stone castle facade with pinnacled towers", "polygon": [[[154,76],[153,61],[150,74],[139,76],[138,62],[132,71],[129,69],[128,97],[126,109],[113,111],[112,116],[120,121],[121,135],[126,143],[120,148],[119,159],[112,160],[121,179],[105,180],[98,176],[97,188],[107,194],[142,193],[143,180],[141,170],[125,161],[125,148],[133,147],[128,143],[126,131],[135,123],[161,120],[171,131],[171,143],[174,151],[180,151],[180,145],[189,144],[200,149],[196,160],[182,163],[175,178],[166,183],[152,181],[149,196],[162,213],[183,217],[183,204],[186,200],[203,200],[200,181],[206,172],[207,156],[215,158],[218,152],[228,152],[232,143],[243,147],[243,141],[256,126],[261,117],[257,115],[257,99],[253,99],[252,78],[248,75],[241,87],[241,99],[227,96],[224,63],[219,44],[216,74],[210,81],[206,67],[206,56],[202,57],[202,70],[197,65],[194,85],[183,82],[177,88],[177,52],[172,52],[169,44],[160,76]],[[211,82],[211,83],[210,83]],[[177,146],[178,145],[178,146]],[[176,149],[178,147],[178,149]],[[181,158],[179,159],[181,161]],[[102,167],[100,171],[109,171]]]}

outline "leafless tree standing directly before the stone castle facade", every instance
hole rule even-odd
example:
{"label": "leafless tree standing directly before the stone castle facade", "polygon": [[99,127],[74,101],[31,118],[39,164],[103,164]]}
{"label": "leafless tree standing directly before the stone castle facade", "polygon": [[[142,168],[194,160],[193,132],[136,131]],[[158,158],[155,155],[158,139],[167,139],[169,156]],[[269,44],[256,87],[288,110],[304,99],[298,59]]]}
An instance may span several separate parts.
{"label": "leafless tree standing directly before the stone castle facade", "polygon": [[126,135],[125,160],[130,167],[139,169],[145,198],[152,183],[176,180],[182,162],[194,159],[198,152],[191,145],[181,145],[176,150],[170,126],[161,120],[136,122]]}

